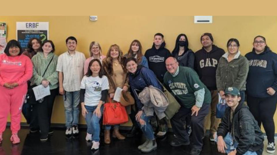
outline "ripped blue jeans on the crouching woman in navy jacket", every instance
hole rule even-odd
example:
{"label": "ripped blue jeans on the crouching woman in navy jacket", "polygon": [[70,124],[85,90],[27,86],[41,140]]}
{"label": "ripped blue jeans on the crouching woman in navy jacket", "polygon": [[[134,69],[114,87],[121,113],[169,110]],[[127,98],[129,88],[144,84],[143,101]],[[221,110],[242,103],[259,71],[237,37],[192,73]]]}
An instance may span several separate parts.
{"label": "ripped blue jeans on the crouching woman in navy jacket", "polygon": [[145,137],[147,139],[150,140],[154,140],[155,136],[154,136],[154,131],[153,128],[151,126],[151,124],[149,123],[149,120],[152,116],[146,116],[145,113],[143,112],[141,115],[141,119],[143,121],[145,121],[145,125],[141,125],[139,122],[137,122],[139,124],[139,127],[141,128],[141,131],[144,133]]}

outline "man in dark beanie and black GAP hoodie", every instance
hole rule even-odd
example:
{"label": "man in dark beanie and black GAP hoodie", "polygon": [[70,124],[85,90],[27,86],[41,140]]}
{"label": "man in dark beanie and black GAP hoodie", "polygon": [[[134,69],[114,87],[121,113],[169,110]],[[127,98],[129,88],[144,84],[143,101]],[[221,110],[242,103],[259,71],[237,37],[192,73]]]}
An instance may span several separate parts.
{"label": "man in dark beanie and black GAP hoodie", "polygon": [[[209,138],[210,141],[214,141],[213,134],[216,132],[220,123],[220,119],[216,118],[216,104],[218,104],[216,69],[218,67],[219,59],[225,54],[225,51],[213,44],[214,38],[210,33],[202,34],[200,41],[203,47],[195,53],[195,71],[212,95]],[[206,118],[205,120],[207,121],[208,119]]]}

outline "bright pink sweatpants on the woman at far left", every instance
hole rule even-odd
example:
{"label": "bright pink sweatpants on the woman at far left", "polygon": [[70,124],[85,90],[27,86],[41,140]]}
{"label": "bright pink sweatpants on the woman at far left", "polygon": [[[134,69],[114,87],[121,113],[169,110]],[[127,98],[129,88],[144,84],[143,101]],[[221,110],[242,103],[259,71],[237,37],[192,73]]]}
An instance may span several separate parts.
{"label": "bright pink sweatpants on the woman at far left", "polygon": [[27,93],[27,83],[13,89],[0,86],[0,133],[6,129],[7,118],[11,114],[11,130],[20,130],[21,111]]}

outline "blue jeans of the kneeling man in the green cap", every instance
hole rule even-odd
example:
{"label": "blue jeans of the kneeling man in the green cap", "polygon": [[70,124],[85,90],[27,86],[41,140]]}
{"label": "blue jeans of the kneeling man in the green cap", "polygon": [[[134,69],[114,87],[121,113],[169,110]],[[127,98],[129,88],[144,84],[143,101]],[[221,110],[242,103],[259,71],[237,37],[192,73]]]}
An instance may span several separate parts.
{"label": "blue jeans of the kneeling man in the green cap", "polygon": [[[216,138],[214,140],[215,140],[215,142],[217,142],[217,135],[216,135]],[[225,153],[227,153],[227,154],[229,154],[231,151],[233,151],[233,150],[235,150],[235,148],[237,148],[238,143],[233,140],[233,137],[231,136],[231,134],[229,132],[224,137],[224,142],[225,142],[225,144],[227,146],[227,149],[225,148]],[[232,148],[231,148],[231,146],[232,146]],[[257,155],[257,153],[256,152],[247,151],[243,155]]]}

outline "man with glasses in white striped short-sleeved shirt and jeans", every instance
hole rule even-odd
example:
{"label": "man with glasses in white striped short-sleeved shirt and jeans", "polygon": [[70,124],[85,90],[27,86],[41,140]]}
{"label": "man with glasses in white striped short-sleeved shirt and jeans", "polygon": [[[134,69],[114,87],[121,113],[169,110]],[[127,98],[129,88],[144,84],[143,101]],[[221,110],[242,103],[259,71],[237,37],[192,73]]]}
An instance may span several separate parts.
{"label": "man with glasses in white striped short-sleeved shirt and jeans", "polygon": [[65,135],[79,133],[80,85],[84,75],[85,55],[76,51],[77,39],[70,36],[66,39],[68,51],[58,58],[59,93],[63,95],[65,106]]}

